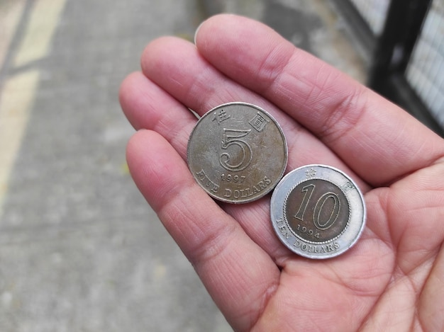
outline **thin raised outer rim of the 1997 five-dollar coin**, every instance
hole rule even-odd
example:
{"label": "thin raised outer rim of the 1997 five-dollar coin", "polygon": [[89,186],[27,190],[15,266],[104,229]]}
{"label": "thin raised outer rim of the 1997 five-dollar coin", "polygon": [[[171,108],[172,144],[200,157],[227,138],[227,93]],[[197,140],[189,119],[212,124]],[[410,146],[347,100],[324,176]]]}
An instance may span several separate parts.
{"label": "thin raised outer rim of the 1997 five-dollar coin", "polygon": [[[249,106],[251,108],[254,108],[255,110],[259,110],[260,112],[265,113],[265,115],[267,115],[267,117],[270,118],[270,120],[272,120],[274,122],[274,125],[276,125],[277,129],[279,130],[279,132],[281,133],[281,137],[282,140],[284,142],[284,162],[282,164],[282,168],[281,171],[279,172],[279,176],[277,176],[277,178],[272,181],[272,183],[270,183],[269,188],[261,191],[260,195],[257,196],[252,196],[250,198],[246,198],[245,200],[227,200],[221,197],[218,197],[217,195],[214,195],[210,190],[207,190],[206,188],[204,188],[204,186],[202,186],[199,183],[199,179],[196,178],[196,176],[194,176],[194,173],[192,171],[191,165],[189,163],[189,154],[190,154],[190,142],[192,141],[192,136],[194,131],[196,130],[196,128],[199,126],[199,124],[203,121],[204,118],[206,118],[207,116],[211,115],[214,110],[217,110],[218,108],[223,108],[226,106],[232,106],[232,105],[243,105],[243,106]],[[260,106],[257,105],[253,105],[251,103],[244,103],[241,101],[233,101],[231,103],[223,103],[221,105],[218,105],[216,107],[211,108],[211,110],[209,110],[208,112],[206,112],[204,115],[201,116],[201,118],[199,118],[199,120],[197,120],[196,124],[193,127],[192,132],[189,134],[189,139],[188,139],[188,144],[187,144],[187,165],[188,165],[188,169],[190,171],[190,173],[192,173],[192,176],[194,178],[194,180],[196,181],[196,183],[199,185],[199,187],[201,187],[202,189],[205,190],[205,192],[210,195],[212,198],[219,200],[221,202],[226,202],[226,203],[231,203],[231,204],[245,204],[245,203],[249,203],[249,202],[254,202],[255,200],[259,200],[260,198],[264,197],[265,195],[267,195],[268,193],[270,193],[275,187],[276,185],[279,183],[279,181],[281,181],[282,176],[284,176],[285,170],[287,168],[287,163],[288,163],[288,145],[287,145],[287,137],[285,137],[284,131],[282,130],[281,125],[279,125],[279,122],[277,122],[277,120],[270,114],[268,113],[266,110],[264,110],[263,108],[260,108]],[[272,179],[270,179],[272,180]]]}

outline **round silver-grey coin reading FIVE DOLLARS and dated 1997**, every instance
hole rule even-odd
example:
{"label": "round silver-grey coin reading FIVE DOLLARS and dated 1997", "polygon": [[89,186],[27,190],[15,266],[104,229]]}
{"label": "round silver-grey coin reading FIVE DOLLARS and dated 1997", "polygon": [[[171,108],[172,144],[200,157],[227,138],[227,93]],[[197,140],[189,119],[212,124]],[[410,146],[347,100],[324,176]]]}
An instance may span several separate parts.
{"label": "round silver-grey coin reading FIVE DOLLARS and dated 1997", "polygon": [[282,178],[287,142],[279,124],[262,108],[227,103],[196,123],[189,137],[188,166],[211,197],[230,203],[262,198]]}

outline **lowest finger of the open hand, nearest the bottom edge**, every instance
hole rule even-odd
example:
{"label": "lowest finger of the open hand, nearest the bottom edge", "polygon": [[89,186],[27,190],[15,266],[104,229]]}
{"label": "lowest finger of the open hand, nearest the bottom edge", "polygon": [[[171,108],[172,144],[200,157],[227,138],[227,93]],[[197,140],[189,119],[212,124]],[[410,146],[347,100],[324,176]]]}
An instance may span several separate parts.
{"label": "lowest finger of the open hand, nearest the bottom edge", "polygon": [[277,287],[279,270],[270,256],[195,183],[182,158],[159,134],[136,133],[127,159],[140,192],[218,307],[233,327],[248,330]]}

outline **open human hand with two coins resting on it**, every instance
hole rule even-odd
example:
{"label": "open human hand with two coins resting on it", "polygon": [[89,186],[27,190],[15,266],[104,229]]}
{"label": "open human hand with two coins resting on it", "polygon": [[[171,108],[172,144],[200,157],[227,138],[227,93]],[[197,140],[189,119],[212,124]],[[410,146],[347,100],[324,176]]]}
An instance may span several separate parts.
{"label": "open human hand with two coins resting on it", "polygon": [[[248,18],[215,16],[196,45],[160,38],[121,105],[138,132],[138,188],[238,331],[442,331],[444,140],[403,110]],[[270,195],[214,202],[184,161],[196,118],[243,101],[287,137],[287,172],[327,164],[365,194],[367,225],[342,256],[296,256],[270,223]]]}

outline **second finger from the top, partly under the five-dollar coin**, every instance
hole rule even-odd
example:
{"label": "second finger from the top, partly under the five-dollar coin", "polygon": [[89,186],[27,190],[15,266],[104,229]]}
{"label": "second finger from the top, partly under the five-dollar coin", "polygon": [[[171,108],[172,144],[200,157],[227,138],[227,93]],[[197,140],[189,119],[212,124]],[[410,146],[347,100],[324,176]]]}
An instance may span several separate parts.
{"label": "second finger from the top, partly under the five-dollar coin", "polygon": [[[216,105],[230,101],[244,101],[267,110],[282,126],[287,137],[287,169],[306,164],[328,164],[350,173],[353,177],[350,168],[304,127],[257,93],[252,93],[235,81],[227,79],[202,59],[190,42],[179,38],[155,40],[145,48],[141,62],[145,76],[199,115]],[[367,190],[368,186],[359,177],[354,178]]]}

